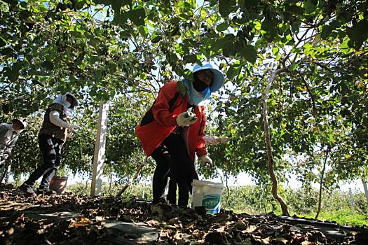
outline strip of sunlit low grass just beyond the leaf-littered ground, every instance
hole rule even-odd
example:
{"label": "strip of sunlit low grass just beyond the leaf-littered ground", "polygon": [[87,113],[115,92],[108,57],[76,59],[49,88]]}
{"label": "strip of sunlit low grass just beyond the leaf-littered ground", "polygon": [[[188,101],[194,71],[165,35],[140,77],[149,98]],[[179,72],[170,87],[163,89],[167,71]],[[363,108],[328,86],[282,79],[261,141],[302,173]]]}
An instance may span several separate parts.
{"label": "strip of sunlit low grass just beyond the leaf-littered ground", "polygon": [[[120,185],[116,183],[104,183],[102,185],[102,194],[105,196],[114,196],[118,193]],[[76,183],[67,186],[67,191],[75,195],[89,195],[90,185],[86,183]],[[247,214],[281,214],[280,207],[272,200],[271,194],[264,191],[263,187],[259,186],[236,186],[225,189],[222,195],[222,208],[233,210],[236,213]],[[282,195],[285,195],[286,201],[289,204],[291,215],[299,217],[314,218],[315,206],[318,203],[318,191],[299,188],[292,190],[282,190]],[[124,200],[130,199],[151,200],[151,185],[136,184],[130,186],[124,195]],[[323,195],[323,211],[320,214],[320,220],[335,221],[340,225],[357,225],[367,227],[368,225],[368,204],[363,193],[352,193],[353,206],[350,202],[348,192],[340,190],[324,193]]]}

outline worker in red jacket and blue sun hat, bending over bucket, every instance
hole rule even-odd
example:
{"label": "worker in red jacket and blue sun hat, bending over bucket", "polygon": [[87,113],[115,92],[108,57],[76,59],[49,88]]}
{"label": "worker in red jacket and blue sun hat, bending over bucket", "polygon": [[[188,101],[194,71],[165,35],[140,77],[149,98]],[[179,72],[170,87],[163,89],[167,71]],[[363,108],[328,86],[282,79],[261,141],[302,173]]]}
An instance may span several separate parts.
{"label": "worker in red jacket and blue sun hat, bending over bucket", "polygon": [[[196,64],[191,79],[170,81],[161,87],[151,109],[135,129],[144,152],[156,161],[152,204],[165,202],[163,192],[170,176],[179,187],[178,204],[186,207],[191,182],[198,179],[195,155],[203,165],[212,165],[203,139],[205,104],[223,84],[221,71],[211,64]],[[168,200],[176,204],[176,193],[168,195]]]}

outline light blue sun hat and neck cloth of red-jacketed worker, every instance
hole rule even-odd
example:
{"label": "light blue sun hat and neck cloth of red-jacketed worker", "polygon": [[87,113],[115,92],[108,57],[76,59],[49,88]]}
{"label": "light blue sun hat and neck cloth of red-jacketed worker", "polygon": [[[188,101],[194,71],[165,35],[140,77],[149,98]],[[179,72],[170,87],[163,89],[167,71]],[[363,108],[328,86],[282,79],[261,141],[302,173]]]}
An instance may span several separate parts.
{"label": "light blue sun hat and neck cloth of red-jacketed worker", "polygon": [[213,80],[211,85],[204,91],[198,92],[196,89],[194,89],[192,81],[186,79],[183,80],[189,96],[189,101],[191,104],[196,106],[205,106],[209,104],[211,100],[211,93],[216,92],[220,87],[222,87],[222,85],[224,85],[224,74],[222,74],[221,71],[214,69],[211,64],[205,64],[203,66],[196,64],[193,67],[192,73],[196,73],[205,69],[212,71]]}

